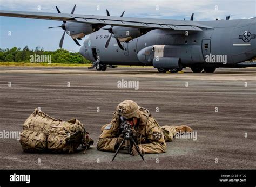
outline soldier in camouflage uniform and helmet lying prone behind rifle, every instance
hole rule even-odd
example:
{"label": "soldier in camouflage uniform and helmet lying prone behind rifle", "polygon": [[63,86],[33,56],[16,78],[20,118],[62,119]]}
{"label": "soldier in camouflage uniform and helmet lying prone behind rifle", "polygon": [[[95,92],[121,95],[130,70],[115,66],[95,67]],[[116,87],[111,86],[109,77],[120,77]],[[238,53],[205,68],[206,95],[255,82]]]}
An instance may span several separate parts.
{"label": "soldier in camouflage uniform and helmet lying prone behind rifle", "polygon": [[[126,118],[136,131],[134,140],[142,154],[164,153],[166,151],[167,141],[172,141],[176,132],[191,132],[188,126],[162,126],[152,117],[149,110],[139,107],[132,100],[125,100],[117,106],[113,119],[110,124],[102,127],[102,134],[99,136],[97,149],[109,152],[115,152],[123,140],[119,128],[119,115]],[[132,147],[131,154],[138,155],[135,147]]]}

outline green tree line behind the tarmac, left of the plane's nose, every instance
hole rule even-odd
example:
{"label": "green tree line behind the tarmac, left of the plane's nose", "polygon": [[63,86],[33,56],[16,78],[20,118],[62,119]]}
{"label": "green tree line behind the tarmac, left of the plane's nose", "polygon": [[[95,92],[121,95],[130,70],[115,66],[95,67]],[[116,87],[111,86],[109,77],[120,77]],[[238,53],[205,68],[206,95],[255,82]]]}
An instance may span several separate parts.
{"label": "green tree line behind the tarmac, left of the plane's nose", "polygon": [[91,63],[79,53],[70,53],[65,49],[56,51],[44,51],[36,47],[35,50],[25,46],[23,49],[13,47],[11,49],[0,48],[0,62],[31,62],[31,55],[51,55],[51,63]]}

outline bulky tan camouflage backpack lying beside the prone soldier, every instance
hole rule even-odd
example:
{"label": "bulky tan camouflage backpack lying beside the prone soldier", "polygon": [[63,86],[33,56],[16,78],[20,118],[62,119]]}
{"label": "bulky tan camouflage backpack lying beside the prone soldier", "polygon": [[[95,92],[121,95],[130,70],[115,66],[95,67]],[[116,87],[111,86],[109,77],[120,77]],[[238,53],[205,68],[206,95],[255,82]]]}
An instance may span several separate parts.
{"label": "bulky tan camouflage backpack lying beside the prone soldier", "polygon": [[21,145],[25,152],[73,153],[82,144],[87,149],[93,140],[77,119],[54,119],[35,109],[23,124]]}

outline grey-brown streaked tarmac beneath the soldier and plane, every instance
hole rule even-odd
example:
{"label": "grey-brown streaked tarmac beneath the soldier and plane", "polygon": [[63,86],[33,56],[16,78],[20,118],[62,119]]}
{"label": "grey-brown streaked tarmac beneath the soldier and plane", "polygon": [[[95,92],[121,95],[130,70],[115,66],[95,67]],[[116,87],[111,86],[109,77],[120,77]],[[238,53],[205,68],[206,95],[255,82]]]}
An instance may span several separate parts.
{"label": "grey-brown streaked tarmac beneath the soldier and plane", "polygon": [[[118,88],[122,79],[139,81],[138,89]],[[161,126],[190,126],[196,138],[167,142],[166,153],[144,155],[146,162],[126,153],[111,162],[114,153],[96,150],[100,127],[127,99],[149,109]],[[0,67],[0,133],[22,131],[41,107],[54,118],[79,119],[95,140],[85,154],[29,154],[16,139],[2,137],[0,169],[255,169],[255,100],[256,68],[160,74],[132,67]]]}

